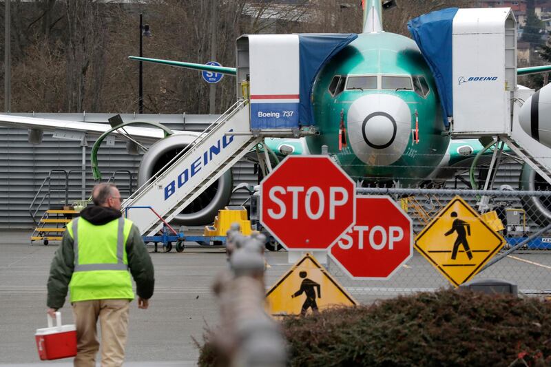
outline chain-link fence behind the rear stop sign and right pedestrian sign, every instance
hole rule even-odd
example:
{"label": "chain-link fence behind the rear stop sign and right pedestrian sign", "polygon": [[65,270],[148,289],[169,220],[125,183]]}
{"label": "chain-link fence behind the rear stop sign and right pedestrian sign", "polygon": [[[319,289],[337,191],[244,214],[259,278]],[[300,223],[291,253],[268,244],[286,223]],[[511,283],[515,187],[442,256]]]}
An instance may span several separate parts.
{"label": "chain-link fence behind the rear stop sign and right pedestrian sign", "polygon": [[[526,295],[551,293],[551,219],[547,213],[550,191],[365,187],[357,189],[357,193],[393,198],[412,218],[415,236],[450,200],[460,196],[483,214],[490,227],[502,228],[498,233],[506,240],[503,248],[472,280],[506,280],[517,284],[519,293]],[[329,273],[362,303],[452,286],[433,264],[415,249],[413,252],[413,257],[388,280],[353,280],[331,258],[327,266]],[[461,248],[457,256],[466,256],[466,253]]]}

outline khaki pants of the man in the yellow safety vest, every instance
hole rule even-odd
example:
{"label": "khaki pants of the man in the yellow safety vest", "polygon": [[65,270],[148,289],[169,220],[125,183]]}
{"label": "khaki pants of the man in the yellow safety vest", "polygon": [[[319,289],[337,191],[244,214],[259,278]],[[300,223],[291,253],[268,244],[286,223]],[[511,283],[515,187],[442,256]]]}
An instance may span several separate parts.
{"label": "khaki pants of the man in the yellow safety vest", "polygon": [[101,324],[101,366],[122,366],[128,330],[129,300],[74,302],[76,323],[75,367],[95,367],[99,343],[96,326]]}

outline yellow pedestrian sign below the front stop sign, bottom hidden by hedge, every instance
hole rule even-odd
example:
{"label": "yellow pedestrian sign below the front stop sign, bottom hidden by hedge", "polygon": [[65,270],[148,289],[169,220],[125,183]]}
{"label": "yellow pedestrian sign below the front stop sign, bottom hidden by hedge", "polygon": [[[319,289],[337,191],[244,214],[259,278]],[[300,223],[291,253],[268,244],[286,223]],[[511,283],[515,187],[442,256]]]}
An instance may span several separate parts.
{"label": "yellow pedestrian sign below the front stop sign, bottom hidden by hedge", "polygon": [[266,294],[270,315],[305,315],[357,302],[315,258],[306,253]]}

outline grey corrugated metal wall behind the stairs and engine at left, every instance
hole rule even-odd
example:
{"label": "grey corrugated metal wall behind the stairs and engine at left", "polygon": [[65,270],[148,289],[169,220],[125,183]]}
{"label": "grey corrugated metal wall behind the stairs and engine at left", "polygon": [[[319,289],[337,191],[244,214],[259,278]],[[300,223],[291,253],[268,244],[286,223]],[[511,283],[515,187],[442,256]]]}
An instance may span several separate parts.
{"label": "grey corrugated metal wall behind the stairs and engine at left", "polygon": [[[94,123],[106,123],[107,118],[113,114],[35,114],[41,118],[56,118],[61,120],[87,121]],[[31,114],[17,114],[17,116],[32,116]],[[135,115],[121,115],[124,121],[136,118]],[[209,115],[147,115],[139,116],[143,120],[163,123],[171,129],[187,129],[200,132],[205,129],[212,120],[218,116]],[[96,140],[96,136],[87,137],[85,147],[85,192],[83,192],[83,148],[81,142],[76,140],[61,140],[52,137],[52,132],[44,132],[43,141],[39,145],[28,143],[27,129],[14,129],[0,127],[0,229],[32,229],[33,222],[29,213],[32,199],[39,191],[45,178],[53,169],[73,171],[70,174],[70,200],[80,200],[90,196],[90,189],[94,185],[92,171],[90,169],[90,151]],[[116,141],[114,147],[108,147],[106,142],[102,144],[98,152],[98,163],[103,180],[110,177],[112,171],[129,171],[134,178],[141,162],[140,156],[132,156],[127,153],[125,142]],[[234,185],[240,182],[256,182],[256,174],[253,174],[253,165],[249,162],[240,162],[233,169]],[[65,184],[65,176],[52,174],[51,188],[61,188]],[[123,197],[127,196],[129,174],[120,172],[116,174],[115,183],[123,191]],[[63,179],[62,179],[63,178]],[[126,192],[125,192],[126,191]],[[48,192],[46,189],[39,196]],[[52,204],[61,203],[64,200],[64,192],[52,192],[50,199]],[[245,191],[236,192],[231,200],[231,205],[239,205],[247,199]],[[45,200],[47,202],[48,200]],[[37,206],[33,208],[36,209]],[[44,207],[45,209],[45,207]],[[39,211],[41,216],[43,210]]]}

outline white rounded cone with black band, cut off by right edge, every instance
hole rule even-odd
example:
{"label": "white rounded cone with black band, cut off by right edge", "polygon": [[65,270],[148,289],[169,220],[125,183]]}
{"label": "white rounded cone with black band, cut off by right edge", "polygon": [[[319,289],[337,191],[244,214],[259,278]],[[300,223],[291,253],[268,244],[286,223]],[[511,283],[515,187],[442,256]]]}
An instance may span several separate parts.
{"label": "white rounded cone with black band, cut off by right edge", "polygon": [[551,84],[526,100],[519,113],[519,124],[534,140],[551,147]]}

